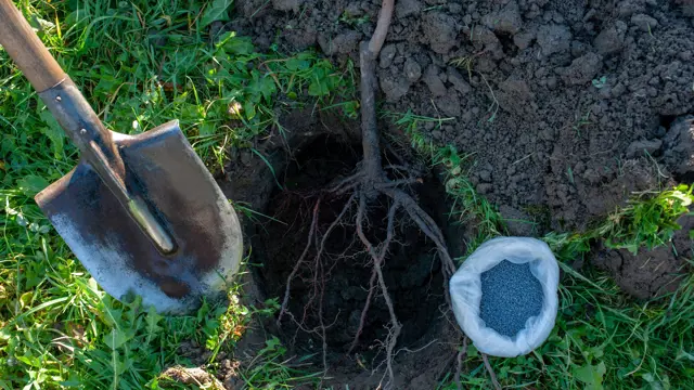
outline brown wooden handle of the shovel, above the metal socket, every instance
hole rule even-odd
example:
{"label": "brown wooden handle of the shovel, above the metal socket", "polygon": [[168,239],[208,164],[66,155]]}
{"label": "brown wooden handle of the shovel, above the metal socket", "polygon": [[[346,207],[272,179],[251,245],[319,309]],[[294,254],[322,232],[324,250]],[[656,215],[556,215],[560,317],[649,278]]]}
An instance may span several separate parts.
{"label": "brown wooden handle of the shovel, above the metal socket", "polygon": [[12,0],[0,0],[0,44],[42,92],[65,79],[65,73],[49,53]]}

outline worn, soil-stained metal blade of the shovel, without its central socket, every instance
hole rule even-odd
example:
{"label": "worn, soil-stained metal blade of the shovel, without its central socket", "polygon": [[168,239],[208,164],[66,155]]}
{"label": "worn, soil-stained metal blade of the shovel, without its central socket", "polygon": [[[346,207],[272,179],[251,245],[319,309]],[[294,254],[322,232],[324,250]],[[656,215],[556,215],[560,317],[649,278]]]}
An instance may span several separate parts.
{"label": "worn, soil-stained metal blade of the shovel, without its central socket", "polygon": [[178,121],[139,135],[112,132],[126,185],[144,199],[176,242],[163,255],[82,159],[36,202],[101,287],[115,298],[142,297],[159,312],[194,310],[226,290],[243,238],[236,214]]}

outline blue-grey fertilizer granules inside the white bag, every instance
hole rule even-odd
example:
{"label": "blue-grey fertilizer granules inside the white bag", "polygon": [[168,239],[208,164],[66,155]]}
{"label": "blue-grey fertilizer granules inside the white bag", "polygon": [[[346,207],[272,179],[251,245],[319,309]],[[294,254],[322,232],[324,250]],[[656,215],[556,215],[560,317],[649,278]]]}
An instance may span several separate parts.
{"label": "blue-grey fertilizer granules inside the white bag", "polygon": [[513,337],[525,322],[542,310],[542,285],[530,272],[530,264],[502,260],[481,273],[479,316],[501,335]]}

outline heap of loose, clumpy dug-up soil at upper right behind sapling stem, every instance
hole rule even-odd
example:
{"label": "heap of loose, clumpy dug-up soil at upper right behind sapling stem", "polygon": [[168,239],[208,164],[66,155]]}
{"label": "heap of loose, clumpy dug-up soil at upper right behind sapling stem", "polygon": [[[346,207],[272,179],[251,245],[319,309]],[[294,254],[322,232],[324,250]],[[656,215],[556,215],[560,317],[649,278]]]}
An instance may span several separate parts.
{"label": "heap of loose, clumpy dug-up soil at upper right behind sapling stem", "polygon": [[[684,3],[399,0],[380,55],[383,108],[455,118],[425,132],[474,154],[471,179],[511,233],[584,229],[632,192],[694,178],[694,12]],[[226,28],[261,48],[317,47],[358,64],[378,9],[241,0]]]}

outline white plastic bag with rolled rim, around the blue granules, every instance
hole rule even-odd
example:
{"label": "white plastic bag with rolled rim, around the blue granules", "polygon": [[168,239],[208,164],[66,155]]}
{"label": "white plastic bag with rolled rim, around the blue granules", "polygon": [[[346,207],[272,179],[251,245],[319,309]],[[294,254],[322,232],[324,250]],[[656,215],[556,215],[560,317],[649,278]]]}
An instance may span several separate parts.
{"label": "white plastic bag with rolled rim, around the blue granules", "polygon": [[[483,272],[502,260],[530,263],[530,272],[542,285],[543,301],[538,316],[526,321],[514,337],[503,336],[485,325],[479,316]],[[453,313],[458,324],[483,353],[514,358],[540,347],[554,327],[558,307],[557,287],[560,269],[550,247],[529,237],[493,238],[477,248],[455,272],[450,283]]]}

